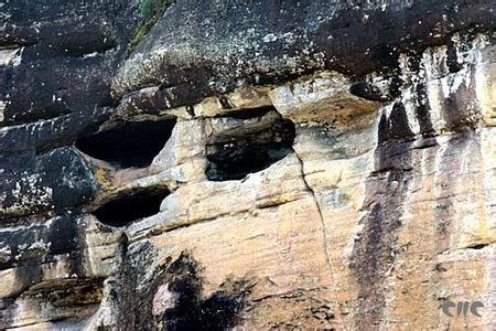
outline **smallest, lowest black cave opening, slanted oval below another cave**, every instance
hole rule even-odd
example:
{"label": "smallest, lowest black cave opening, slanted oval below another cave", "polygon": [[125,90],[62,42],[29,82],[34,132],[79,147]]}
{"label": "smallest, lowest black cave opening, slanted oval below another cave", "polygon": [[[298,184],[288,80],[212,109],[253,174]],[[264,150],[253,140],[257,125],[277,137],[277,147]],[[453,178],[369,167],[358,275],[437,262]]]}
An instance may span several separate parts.
{"label": "smallest, lowest black cave opening, slanted oval below another cave", "polygon": [[95,210],[98,221],[110,226],[126,226],[132,221],[160,212],[160,204],[169,195],[166,188],[148,188],[114,199]]}

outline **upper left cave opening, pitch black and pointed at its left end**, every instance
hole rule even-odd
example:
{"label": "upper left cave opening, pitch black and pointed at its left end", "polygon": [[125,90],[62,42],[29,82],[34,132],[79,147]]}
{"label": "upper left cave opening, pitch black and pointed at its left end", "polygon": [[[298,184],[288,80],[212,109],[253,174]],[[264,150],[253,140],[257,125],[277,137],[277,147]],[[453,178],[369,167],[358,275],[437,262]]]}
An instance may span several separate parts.
{"label": "upper left cave opening, pitch black and pointed at its left end", "polygon": [[175,119],[120,122],[117,127],[78,139],[76,148],[117,168],[144,168],[172,135]]}

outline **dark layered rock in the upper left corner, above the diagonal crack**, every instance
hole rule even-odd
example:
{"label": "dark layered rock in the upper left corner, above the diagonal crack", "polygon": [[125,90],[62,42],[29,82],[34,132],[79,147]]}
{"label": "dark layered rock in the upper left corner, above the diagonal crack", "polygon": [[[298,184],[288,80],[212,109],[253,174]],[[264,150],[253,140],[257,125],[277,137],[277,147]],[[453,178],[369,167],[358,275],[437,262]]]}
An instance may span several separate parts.
{"label": "dark layered rock in the upper left corner, above the diagonal crack", "polygon": [[134,26],[121,1],[14,1],[0,49],[18,49],[0,64],[0,126],[36,121],[111,104],[112,68]]}

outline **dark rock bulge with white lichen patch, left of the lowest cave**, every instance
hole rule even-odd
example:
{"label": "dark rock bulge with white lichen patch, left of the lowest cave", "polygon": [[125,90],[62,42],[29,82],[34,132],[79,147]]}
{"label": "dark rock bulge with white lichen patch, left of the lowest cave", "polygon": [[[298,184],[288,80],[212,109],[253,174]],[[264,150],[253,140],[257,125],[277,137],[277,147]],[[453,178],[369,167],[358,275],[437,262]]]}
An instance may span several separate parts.
{"label": "dark rock bulge with white lichen patch, left of the lowest cave", "polygon": [[[0,220],[3,224],[21,216],[75,211],[88,202],[97,184],[82,156],[72,147],[43,154],[24,153],[1,159],[0,188],[4,192]],[[17,161],[22,160],[22,164]]]}

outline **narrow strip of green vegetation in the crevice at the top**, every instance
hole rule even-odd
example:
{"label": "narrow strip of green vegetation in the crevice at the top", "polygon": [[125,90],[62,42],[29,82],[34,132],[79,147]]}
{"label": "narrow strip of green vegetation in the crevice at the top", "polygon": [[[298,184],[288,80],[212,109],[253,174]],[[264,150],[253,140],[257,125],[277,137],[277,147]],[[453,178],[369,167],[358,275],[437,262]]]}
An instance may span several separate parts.
{"label": "narrow strip of green vegetation in the crevice at the top", "polygon": [[151,28],[163,15],[165,10],[175,0],[141,0],[140,3],[140,26],[134,32],[134,36],[128,46],[126,57],[129,57],[143,41],[144,36],[150,32]]}

